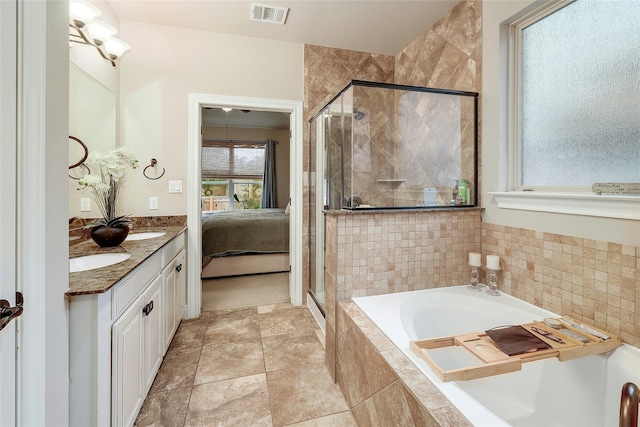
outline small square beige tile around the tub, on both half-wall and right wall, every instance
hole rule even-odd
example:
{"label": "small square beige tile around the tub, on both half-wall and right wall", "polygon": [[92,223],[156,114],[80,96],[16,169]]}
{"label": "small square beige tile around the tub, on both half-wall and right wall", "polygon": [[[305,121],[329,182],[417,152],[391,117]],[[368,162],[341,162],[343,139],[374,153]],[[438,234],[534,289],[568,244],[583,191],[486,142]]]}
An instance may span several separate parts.
{"label": "small square beige tile around the tub, on both half-wall and right wall", "polygon": [[328,303],[468,283],[468,253],[496,254],[500,291],[640,347],[640,246],[488,224],[481,212],[327,214]]}

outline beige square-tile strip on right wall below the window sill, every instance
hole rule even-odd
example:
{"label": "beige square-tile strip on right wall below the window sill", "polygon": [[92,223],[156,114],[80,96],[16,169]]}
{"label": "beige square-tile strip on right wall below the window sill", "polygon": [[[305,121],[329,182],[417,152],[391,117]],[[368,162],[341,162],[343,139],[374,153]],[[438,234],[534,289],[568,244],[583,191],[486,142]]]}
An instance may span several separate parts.
{"label": "beige square-tile strip on right wall below the window sill", "polygon": [[499,289],[640,347],[640,246],[483,223],[482,252]]}

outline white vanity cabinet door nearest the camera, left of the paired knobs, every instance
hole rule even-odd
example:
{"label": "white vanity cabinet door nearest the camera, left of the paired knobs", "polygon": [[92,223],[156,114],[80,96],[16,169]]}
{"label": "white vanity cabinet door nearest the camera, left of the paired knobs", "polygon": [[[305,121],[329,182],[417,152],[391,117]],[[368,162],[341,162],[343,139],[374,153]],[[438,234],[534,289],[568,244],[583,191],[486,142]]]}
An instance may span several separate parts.
{"label": "white vanity cabinet door nearest the camera, left of the paired knobs", "polygon": [[144,300],[136,302],[113,324],[113,419],[114,426],[133,425],[142,405],[144,351]]}

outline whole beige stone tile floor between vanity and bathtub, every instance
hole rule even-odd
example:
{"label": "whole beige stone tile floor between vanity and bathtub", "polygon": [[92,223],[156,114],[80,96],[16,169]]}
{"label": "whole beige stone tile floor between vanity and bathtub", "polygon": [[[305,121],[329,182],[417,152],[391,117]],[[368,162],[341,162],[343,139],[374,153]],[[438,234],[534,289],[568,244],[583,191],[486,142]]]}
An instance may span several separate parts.
{"label": "whole beige stone tile floor between vanity and bathtub", "polygon": [[183,321],[136,426],[357,426],[320,329],[288,303]]}

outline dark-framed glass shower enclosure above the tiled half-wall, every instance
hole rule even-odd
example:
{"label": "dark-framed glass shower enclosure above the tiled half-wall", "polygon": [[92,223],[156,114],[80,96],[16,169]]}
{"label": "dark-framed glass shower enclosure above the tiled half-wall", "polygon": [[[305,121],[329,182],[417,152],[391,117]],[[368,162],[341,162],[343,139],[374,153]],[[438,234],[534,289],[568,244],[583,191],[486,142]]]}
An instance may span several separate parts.
{"label": "dark-framed glass shower enclosure above the tiled half-wall", "polygon": [[321,309],[323,211],[477,206],[475,92],[353,80],[309,135],[309,283]]}

